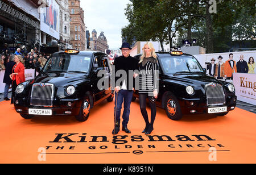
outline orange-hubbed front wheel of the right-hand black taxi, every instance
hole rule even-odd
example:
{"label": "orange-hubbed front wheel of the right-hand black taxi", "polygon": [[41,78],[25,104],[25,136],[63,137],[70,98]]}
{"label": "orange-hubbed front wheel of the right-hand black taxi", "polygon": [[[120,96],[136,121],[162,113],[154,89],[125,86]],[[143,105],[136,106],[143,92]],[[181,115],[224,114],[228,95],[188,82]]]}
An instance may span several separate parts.
{"label": "orange-hubbed front wheel of the right-hand black taxi", "polygon": [[166,110],[168,118],[172,120],[180,120],[182,118],[179,101],[172,93],[167,94],[164,109]]}

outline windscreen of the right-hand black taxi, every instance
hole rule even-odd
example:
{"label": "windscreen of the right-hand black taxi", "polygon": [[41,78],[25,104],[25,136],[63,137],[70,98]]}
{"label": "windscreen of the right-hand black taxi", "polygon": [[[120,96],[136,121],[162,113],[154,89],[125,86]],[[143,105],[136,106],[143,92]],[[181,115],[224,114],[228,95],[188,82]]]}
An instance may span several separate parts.
{"label": "windscreen of the right-hand black taxi", "polygon": [[166,73],[203,73],[203,68],[194,57],[163,57],[160,59]]}

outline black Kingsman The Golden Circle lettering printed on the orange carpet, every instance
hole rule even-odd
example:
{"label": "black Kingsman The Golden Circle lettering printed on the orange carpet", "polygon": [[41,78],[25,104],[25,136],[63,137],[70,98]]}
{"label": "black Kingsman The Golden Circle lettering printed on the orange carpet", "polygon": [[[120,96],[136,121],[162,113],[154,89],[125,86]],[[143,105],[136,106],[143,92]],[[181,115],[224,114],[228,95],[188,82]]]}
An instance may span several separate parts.
{"label": "black Kingsman The Golden Circle lettering printed on the orange carpet", "polygon": [[[86,133],[78,134],[55,134],[55,137],[46,145],[46,150],[55,151],[52,154],[63,153],[63,151],[89,151],[88,153],[130,153],[119,151],[131,151],[135,155],[143,152],[187,152],[187,151],[208,151],[215,147],[223,150],[225,146],[218,143],[216,139],[208,135],[116,135],[110,136],[89,136]],[[72,144],[72,145],[71,145]],[[205,149],[207,148],[207,149]],[[139,149],[139,150],[138,150]],[[106,152],[111,150],[112,152]],[[57,152],[56,152],[57,151]],[[96,152],[97,151],[97,152]],[[99,152],[100,151],[100,152]],[[66,152],[72,154],[74,152]],[[82,152],[80,152],[82,154]],[[84,152],[86,154],[86,152]]]}

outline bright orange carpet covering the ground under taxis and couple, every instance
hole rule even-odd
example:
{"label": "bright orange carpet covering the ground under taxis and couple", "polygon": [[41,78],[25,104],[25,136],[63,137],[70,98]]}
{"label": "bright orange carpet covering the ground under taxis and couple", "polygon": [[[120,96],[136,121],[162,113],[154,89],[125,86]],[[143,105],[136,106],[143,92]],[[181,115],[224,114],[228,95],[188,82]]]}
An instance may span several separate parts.
{"label": "bright orange carpet covering the ground under taxis and couple", "polygon": [[0,163],[256,163],[256,115],[238,108],[180,121],[157,108],[154,131],[146,136],[137,99],[131,134],[120,131],[113,139],[114,102],[95,106],[84,123],[75,117],[26,120],[12,107],[0,103]]}

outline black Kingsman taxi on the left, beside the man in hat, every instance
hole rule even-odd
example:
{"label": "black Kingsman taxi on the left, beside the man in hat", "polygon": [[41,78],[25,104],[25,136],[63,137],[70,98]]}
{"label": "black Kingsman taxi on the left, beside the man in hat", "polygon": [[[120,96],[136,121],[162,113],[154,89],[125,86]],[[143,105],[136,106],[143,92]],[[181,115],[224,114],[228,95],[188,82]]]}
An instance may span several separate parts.
{"label": "black Kingsman taxi on the left, beside the man in hat", "polygon": [[[110,60],[102,52],[66,50],[56,52],[44,68],[38,68],[34,80],[19,84],[15,91],[14,106],[23,118],[33,116],[76,116],[84,122],[94,105],[113,101],[110,87]],[[99,71],[109,78],[108,88],[98,89]]]}

